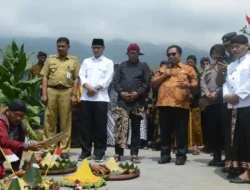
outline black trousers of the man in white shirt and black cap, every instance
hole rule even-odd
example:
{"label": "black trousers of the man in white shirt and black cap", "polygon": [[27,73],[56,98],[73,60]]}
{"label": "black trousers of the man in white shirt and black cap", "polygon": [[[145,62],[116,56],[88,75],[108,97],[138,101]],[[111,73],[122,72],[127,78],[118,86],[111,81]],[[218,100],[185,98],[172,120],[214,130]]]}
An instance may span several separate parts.
{"label": "black trousers of the man in white shirt and black cap", "polygon": [[108,103],[81,101],[82,155],[90,156],[94,137],[94,155],[104,156],[107,149]]}

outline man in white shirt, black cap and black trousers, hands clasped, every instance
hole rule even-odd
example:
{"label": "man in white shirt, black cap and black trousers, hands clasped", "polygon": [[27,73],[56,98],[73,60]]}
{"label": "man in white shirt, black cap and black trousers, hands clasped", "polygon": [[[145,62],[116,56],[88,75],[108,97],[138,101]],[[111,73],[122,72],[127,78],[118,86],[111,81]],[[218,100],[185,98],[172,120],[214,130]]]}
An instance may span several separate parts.
{"label": "man in white shirt, black cap and black trousers, hands clasped", "polygon": [[103,39],[93,39],[94,56],[82,63],[79,77],[84,87],[81,96],[81,147],[79,161],[91,156],[92,137],[97,162],[103,161],[107,148],[108,86],[112,80],[114,63],[103,56]]}

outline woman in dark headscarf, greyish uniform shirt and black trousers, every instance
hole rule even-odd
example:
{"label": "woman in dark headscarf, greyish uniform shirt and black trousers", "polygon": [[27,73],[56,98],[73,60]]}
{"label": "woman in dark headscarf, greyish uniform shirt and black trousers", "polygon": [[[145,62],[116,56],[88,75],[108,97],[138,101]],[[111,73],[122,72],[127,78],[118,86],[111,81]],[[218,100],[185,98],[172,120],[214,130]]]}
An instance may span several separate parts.
{"label": "woman in dark headscarf, greyish uniform shirt and black trousers", "polygon": [[201,92],[204,98],[204,115],[206,127],[208,130],[208,144],[213,151],[213,160],[209,166],[223,167],[224,163],[221,159],[221,147],[223,145],[223,125],[221,118],[222,99],[222,83],[218,85],[216,77],[218,74],[217,63],[221,59],[226,58],[226,51],[221,44],[214,45],[210,50],[210,56],[214,64],[206,67],[201,77]]}

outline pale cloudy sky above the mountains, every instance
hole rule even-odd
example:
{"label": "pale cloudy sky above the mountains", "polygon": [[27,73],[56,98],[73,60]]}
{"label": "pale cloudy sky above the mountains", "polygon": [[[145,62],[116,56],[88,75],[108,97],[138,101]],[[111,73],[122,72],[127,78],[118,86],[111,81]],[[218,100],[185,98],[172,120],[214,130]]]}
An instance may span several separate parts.
{"label": "pale cloudy sky above the mountains", "polygon": [[209,49],[238,32],[250,0],[0,0],[1,37],[66,36]]}

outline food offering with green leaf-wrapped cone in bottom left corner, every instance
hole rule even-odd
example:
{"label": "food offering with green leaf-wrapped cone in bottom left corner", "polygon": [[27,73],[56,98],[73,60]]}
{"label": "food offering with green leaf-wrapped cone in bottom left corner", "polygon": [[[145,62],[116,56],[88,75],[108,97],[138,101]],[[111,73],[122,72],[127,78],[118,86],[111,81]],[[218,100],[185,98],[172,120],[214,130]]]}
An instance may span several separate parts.
{"label": "food offering with green leaf-wrapped cone in bottom left corner", "polygon": [[60,185],[53,179],[43,181],[34,154],[31,156],[26,171],[20,170],[4,179],[1,190],[59,190]]}

